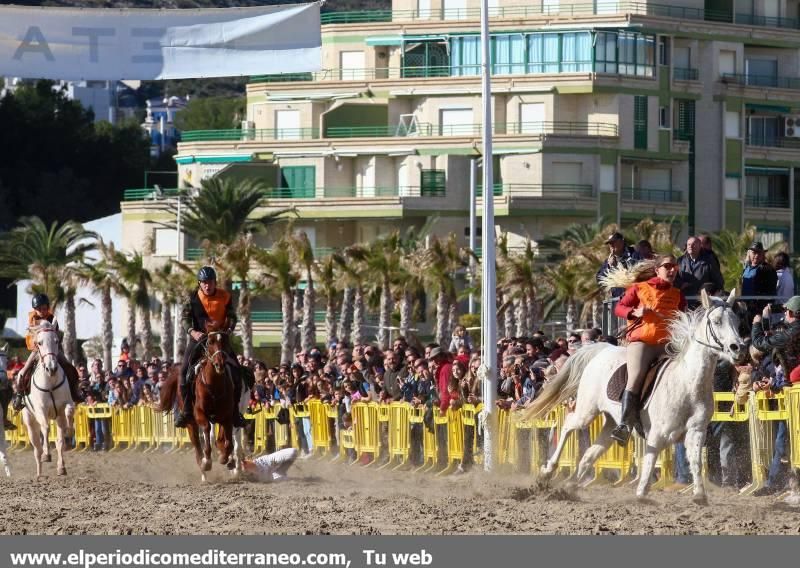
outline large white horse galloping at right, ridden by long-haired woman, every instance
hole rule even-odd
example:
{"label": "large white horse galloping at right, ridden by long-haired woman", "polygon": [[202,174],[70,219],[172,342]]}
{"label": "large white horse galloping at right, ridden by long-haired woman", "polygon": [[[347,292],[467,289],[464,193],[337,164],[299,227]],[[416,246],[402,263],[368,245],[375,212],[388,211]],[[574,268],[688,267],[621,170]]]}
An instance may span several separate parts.
{"label": "large white horse galloping at right, ridden by long-haired woman", "polygon": [[[714,368],[720,357],[733,362],[744,348],[738,333],[739,318],[731,308],[735,293],[735,290],[731,292],[726,302],[711,299],[703,292],[701,308],[678,314],[670,323],[668,351],[671,360],[641,412],[647,447],[643,463],[639,464],[636,495],[640,499],[650,489],[659,452],[667,444],[685,440],[694,481],[693,500],[699,504],[707,502],[700,468],[706,428],[714,411]],[[528,409],[526,418],[543,416],[556,405],[577,396],[575,411],[567,414],[558,445],[541,468],[543,481],[549,480],[555,471],[570,432],[588,427],[601,413],[603,428],[581,458],[576,479],[580,481],[608,449],[611,431],[621,418],[621,405],[608,398],[606,387],[614,371],[624,363],[623,347],[606,343],[582,347],[567,360]]]}

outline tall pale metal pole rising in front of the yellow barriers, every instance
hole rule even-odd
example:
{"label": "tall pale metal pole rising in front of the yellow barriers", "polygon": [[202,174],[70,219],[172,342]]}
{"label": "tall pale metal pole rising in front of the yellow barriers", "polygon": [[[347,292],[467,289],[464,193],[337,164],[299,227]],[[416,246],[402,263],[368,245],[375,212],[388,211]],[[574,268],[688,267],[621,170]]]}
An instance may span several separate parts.
{"label": "tall pale metal pole rising in front of the yellow barriers", "polygon": [[494,176],[492,172],[492,85],[491,59],[489,48],[489,0],[481,0],[481,51],[482,102],[483,102],[483,223],[482,259],[483,288],[481,301],[482,360],[485,370],[483,376],[483,408],[486,413],[486,427],[483,437],[483,464],[486,471],[494,468],[493,443],[497,414],[494,407],[497,384],[497,293],[495,291],[494,264]]}

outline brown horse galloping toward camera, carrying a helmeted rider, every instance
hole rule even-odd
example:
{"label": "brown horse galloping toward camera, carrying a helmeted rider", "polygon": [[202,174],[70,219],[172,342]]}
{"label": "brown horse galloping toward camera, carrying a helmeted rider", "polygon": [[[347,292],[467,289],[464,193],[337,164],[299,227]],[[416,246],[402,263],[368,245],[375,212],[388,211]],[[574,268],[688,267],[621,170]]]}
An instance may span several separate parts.
{"label": "brown horse galloping toward camera, carrying a helmeted rider", "polygon": [[[194,408],[192,420],[187,424],[189,438],[194,446],[197,465],[200,466],[202,480],[206,481],[206,473],[211,469],[211,424],[217,426],[217,450],[219,463],[235,468],[233,452],[233,378],[225,364],[225,342],[228,337],[222,331],[209,331],[205,341],[198,344],[204,353],[198,363],[198,371],[194,378]],[[177,399],[179,408],[183,410],[183,397],[178,394],[179,373],[173,373],[161,388],[160,406],[169,412]]]}

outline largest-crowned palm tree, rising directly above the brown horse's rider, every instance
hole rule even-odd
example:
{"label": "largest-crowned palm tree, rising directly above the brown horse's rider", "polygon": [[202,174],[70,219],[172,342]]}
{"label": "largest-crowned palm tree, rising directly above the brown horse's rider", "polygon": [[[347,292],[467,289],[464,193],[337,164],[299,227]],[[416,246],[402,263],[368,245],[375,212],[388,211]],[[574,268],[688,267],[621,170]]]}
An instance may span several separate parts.
{"label": "largest-crowned palm tree, rising directly above the brown horse's rider", "polygon": [[[262,180],[213,177],[201,182],[197,197],[187,201],[182,215],[182,229],[200,242],[206,258],[220,267],[221,287],[229,288],[230,277],[241,283],[236,309],[245,357],[253,354],[248,273],[257,249],[254,235],[295,212],[294,208],[287,208],[256,213],[266,191]],[[157,224],[176,229],[177,204],[169,208],[175,214],[175,221]]]}

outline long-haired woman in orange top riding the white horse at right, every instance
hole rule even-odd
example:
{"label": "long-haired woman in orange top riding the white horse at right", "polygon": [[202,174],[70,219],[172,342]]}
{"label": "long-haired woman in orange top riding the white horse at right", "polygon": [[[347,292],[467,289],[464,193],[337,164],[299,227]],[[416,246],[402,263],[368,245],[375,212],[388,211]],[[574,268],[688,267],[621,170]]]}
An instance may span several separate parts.
{"label": "long-haired woman in orange top riding the white horse at right", "polygon": [[667,324],[676,311],[686,309],[686,298],[674,286],[678,263],[672,255],[656,261],[656,275],[637,282],[625,291],[614,308],[617,317],[626,318],[628,325],[628,382],[622,394],[622,420],[611,437],[622,445],[628,443],[631,431],[639,424],[639,398],[647,370],[664,354],[669,332]]}

